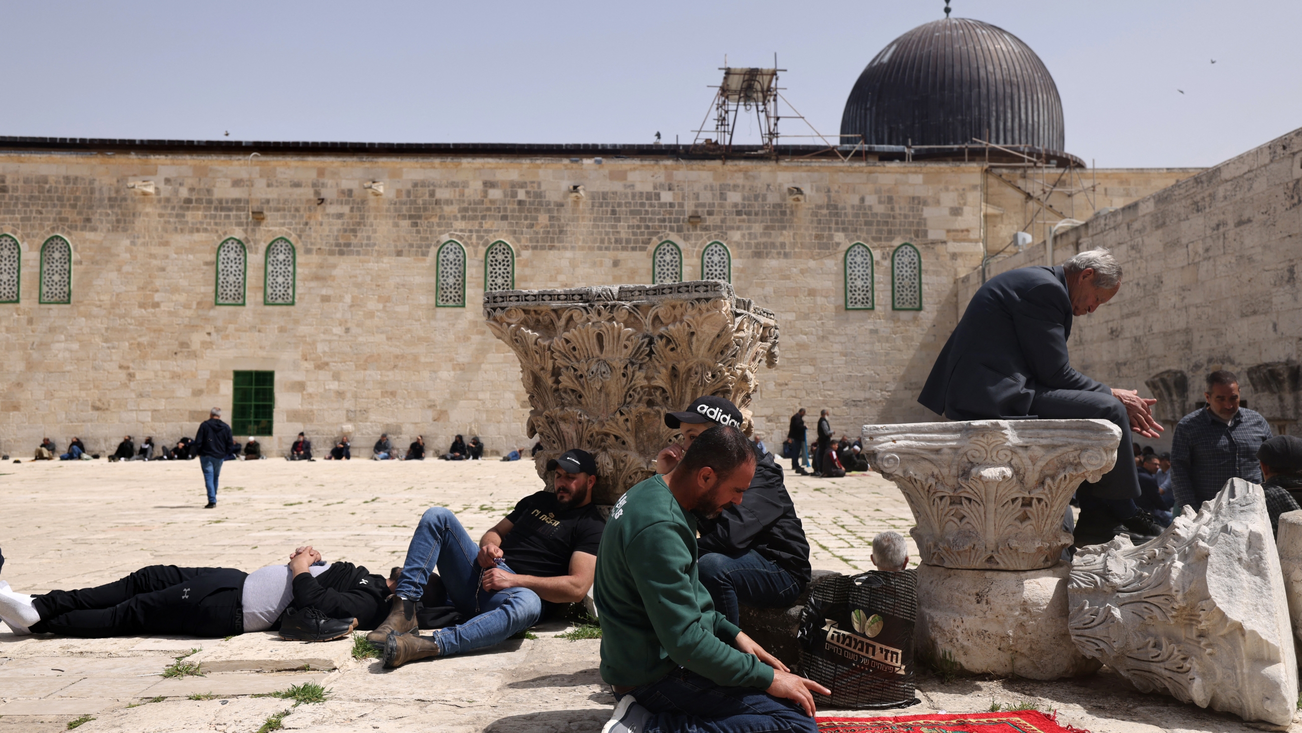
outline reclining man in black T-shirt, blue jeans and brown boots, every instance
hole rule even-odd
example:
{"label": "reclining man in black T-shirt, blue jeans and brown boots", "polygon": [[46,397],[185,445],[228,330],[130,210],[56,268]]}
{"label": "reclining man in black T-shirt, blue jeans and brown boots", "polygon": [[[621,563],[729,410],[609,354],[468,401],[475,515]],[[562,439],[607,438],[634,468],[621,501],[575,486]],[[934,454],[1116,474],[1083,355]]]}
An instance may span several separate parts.
{"label": "reclining man in black T-shirt, blue jeans and brown boots", "polygon": [[[596,461],[586,450],[566,450],[548,469],[556,493],[522,499],[479,547],[448,509],[436,506],[421,517],[389,617],[366,635],[384,644],[384,667],[490,647],[536,624],[544,600],[583,600],[605,527],[592,504]],[[467,621],[421,637],[415,602],[435,568],[450,605]]]}

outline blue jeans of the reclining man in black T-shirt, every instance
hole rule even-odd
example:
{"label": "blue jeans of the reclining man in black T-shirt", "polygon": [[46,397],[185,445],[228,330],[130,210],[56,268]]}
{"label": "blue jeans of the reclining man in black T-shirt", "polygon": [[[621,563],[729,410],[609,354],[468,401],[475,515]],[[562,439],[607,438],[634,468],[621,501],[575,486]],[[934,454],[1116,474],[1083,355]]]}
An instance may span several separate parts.
{"label": "blue jeans of the reclining man in black T-shirt", "polygon": [[[452,605],[469,618],[465,624],[434,631],[441,656],[499,644],[536,624],[543,615],[543,599],[529,588],[483,590],[478,556],[479,546],[466,534],[457,516],[443,506],[424,512],[408,546],[397,595],[419,600],[430,573],[437,566]],[[513,573],[501,560],[497,566]]]}

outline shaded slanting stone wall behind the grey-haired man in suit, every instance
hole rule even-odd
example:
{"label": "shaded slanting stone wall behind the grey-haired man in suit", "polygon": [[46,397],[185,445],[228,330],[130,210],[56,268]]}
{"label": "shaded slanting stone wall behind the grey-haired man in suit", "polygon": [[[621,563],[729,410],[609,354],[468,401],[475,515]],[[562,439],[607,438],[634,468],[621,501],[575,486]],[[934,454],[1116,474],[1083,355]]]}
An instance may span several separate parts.
{"label": "shaded slanting stone wall behind the grey-haired man in suit", "polygon": [[[990,275],[1043,264],[1046,243],[992,263]],[[1157,397],[1168,431],[1203,400],[1207,372],[1238,374],[1249,406],[1276,432],[1299,434],[1302,130],[1059,232],[1053,262],[1107,247],[1121,290],[1072,329],[1072,361],[1113,387]],[[958,283],[958,314],[980,286]],[[1143,443],[1150,443],[1143,440]]]}

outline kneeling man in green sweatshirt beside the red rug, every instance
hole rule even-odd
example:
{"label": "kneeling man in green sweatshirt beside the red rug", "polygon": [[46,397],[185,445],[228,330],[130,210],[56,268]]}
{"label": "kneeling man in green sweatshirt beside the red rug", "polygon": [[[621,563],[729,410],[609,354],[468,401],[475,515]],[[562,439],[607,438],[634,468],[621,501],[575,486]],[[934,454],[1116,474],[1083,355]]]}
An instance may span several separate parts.
{"label": "kneeling man in green sweatshirt beside the red rug", "polygon": [[831,693],[728,622],[698,578],[697,514],[740,504],[754,473],[746,436],[713,427],[611,510],[594,586],[602,678],[618,699],[605,733],[816,730],[810,690]]}

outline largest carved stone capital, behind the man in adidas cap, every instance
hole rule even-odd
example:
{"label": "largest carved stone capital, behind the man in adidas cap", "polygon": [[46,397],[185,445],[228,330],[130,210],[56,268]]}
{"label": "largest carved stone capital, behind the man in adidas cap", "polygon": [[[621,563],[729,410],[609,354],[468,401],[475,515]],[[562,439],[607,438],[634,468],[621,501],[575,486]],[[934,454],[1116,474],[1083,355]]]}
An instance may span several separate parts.
{"label": "largest carved stone capital, behind the man in adidas cap", "polygon": [[596,456],[594,501],[613,504],[655,473],[673,435],[664,413],[715,394],[732,400],[749,434],[759,366],[777,366],[772,311],[732,285],[697,280],[569,290],[484,293],[492,333],[519,358],[529,436],[547,461],[570,448]]}

